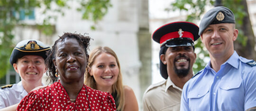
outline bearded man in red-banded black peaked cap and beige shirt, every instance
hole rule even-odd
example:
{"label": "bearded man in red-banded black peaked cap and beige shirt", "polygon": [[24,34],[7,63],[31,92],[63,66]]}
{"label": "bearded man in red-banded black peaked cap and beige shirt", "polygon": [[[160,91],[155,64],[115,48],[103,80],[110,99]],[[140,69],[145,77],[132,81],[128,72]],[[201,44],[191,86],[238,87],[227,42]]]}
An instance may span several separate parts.
{"label": "bearded man in red-banded black peaked cap and beige shirt", "polygon": [[143,97],[144,111],[178,111],[183,85],[192,78],[195,63],[194,41],[199,28],[189,22],[174,22],[152,35],[160,43],[160,73],[166,80],[149,86]]}

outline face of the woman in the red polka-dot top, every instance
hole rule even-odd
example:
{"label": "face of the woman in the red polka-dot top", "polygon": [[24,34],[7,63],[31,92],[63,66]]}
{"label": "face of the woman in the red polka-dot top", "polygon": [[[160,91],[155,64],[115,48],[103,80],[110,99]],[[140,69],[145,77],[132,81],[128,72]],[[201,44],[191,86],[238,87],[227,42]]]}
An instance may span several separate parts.
{"label": "face of the woman in the red polka-dot top", "polygon": [[64,39],[56,44],[53,62],[61,82],[83,81],[87,65],[85,49],[76,39]]}

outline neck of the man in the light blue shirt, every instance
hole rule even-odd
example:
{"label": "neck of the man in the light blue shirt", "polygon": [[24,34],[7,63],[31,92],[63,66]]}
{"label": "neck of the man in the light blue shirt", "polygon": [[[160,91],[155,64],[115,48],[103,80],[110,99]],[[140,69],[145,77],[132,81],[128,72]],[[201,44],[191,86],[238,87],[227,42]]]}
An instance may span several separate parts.
{"label": "neck of the man in the light blue shirt", "polygon": [[230,56],[233,55],[233,53],[234,53],[234,50],[233,50],[232,53],[226,54],[226,55],[224,55],[224,56],[216,56],[216,55],[214,56],[214,55],[211,55],[211,54],[210,54],[210,64],[211,64],[211,68],[212,68],[214,71],[218,72],[219,69],[220,69],[220,65],[223,64],[223,63],[225,63],[225,62],[230,58]]}

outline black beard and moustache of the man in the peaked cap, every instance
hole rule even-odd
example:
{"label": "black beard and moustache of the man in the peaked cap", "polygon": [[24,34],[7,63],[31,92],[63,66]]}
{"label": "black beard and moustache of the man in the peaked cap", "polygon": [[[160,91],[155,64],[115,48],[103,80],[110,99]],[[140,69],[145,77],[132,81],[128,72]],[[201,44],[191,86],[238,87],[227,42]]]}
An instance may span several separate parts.
{"label": "black beard and moustache of the man in the peaked cap", "polygon": [[[179,56],[178,58],[183,57],[183,56]],[[190,64],[190,59],[189,59],[189,64]],[[183,68],[183,69],[177,69],[176,65],[175,65],[175,61],[174,61],[174,71],[177,74],[177,76],[179,78],[183,78],[186,77],[189,73],[190,70],[190,65],[187,69]]]}

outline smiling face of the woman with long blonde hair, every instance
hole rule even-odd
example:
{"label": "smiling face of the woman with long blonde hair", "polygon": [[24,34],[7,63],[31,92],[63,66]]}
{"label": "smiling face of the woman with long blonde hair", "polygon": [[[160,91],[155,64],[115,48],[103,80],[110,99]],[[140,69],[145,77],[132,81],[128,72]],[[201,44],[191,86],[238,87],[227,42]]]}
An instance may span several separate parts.
{"label": "smiling face of the woman with long blonde hair", "polygon": [[102,52],[95,57],[91,65],[90,75],[96,81],[96,87],[112,87],[117,82],[119,67],[116,58],[108,53]]}

